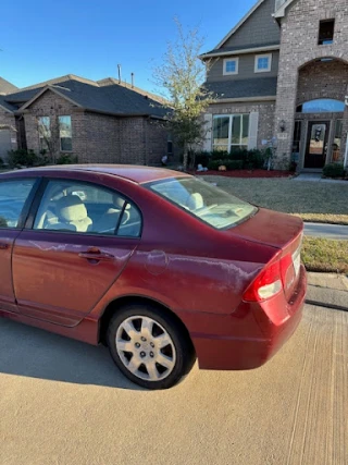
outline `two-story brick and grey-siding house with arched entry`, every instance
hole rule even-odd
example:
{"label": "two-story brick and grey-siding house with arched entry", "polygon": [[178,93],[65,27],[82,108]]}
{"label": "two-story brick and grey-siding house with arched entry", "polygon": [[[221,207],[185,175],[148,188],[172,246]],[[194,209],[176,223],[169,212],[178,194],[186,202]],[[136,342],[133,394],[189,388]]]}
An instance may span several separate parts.
{"label": "two-story brick and grey-siding house with arched entry", "polygon": [[262,148],[275,137],[279,167],[347,164],[347,0],[259,0],[201,59],[217,98],[204,149]]}

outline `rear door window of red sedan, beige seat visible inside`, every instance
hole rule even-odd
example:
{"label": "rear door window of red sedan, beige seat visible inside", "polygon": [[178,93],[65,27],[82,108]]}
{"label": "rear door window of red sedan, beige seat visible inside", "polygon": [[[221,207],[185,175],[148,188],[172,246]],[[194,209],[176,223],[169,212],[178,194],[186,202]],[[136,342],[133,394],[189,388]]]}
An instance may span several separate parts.
{"label": "rear door window of red sedan, beige seat visible inside", "polygon": [[138,237],[138,208],[115,191],[76,181],[50,181],[35,221],[35,230]]}

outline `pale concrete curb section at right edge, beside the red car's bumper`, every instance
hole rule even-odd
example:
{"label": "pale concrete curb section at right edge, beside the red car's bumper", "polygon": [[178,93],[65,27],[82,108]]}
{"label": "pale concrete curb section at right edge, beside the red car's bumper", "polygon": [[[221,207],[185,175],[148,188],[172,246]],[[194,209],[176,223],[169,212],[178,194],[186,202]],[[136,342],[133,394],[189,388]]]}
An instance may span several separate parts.
{"label": "pale concrete curb section at right edge, beside the red car's bumper", "polygon": [[307,303],[348,311],[348,278],[344,274],[309,272]]}

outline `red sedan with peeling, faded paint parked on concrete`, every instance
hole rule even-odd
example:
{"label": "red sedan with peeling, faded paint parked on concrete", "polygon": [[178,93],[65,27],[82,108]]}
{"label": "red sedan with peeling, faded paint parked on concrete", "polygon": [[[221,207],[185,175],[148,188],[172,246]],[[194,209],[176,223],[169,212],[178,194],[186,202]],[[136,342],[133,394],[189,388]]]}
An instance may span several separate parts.
{"label": "red sedan with peeling, faded paint parked on concrete", "polygon": [[302,221],[164,169],[0,175],[0,315],[90,344],[149,389],[269,360],[301,318]]}

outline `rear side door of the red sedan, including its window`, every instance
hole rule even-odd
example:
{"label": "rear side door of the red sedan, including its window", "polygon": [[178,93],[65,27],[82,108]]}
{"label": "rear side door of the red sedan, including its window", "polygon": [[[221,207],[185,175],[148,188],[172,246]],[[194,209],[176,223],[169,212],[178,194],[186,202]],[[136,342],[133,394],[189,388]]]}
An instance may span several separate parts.
{"label": "rear side door of the red sedan, including its window", "polygon": [[[135,227],[127,229],[130,217]],[[20,311],[77,325],[122,273],[138,245],[140,221],[137,207],[113,191],[49,181],[32,229],[22,231],[14,246]]]}

